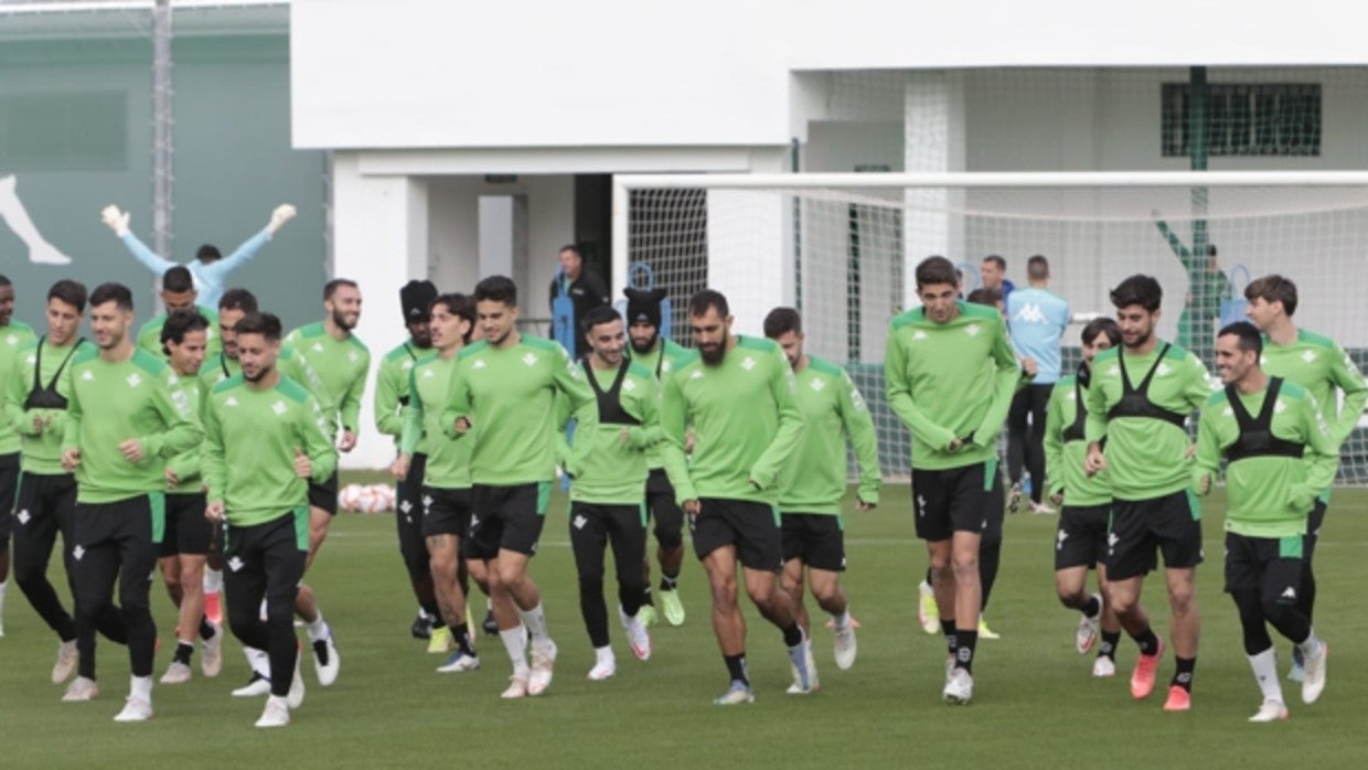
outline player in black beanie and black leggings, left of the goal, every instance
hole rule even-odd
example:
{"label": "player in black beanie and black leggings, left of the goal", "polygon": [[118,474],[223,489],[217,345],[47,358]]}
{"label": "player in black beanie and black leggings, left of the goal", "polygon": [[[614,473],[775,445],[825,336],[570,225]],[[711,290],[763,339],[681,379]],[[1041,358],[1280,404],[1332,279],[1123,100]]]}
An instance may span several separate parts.
{"label": "player in black beanie and black leggings, left of the goal", "polygon": [[[399,289],[399,306],[404,312],[404,326],[409,338],[390,350],[380,360],[375,375],[375,428],[386,436],[394,436],[395,449],[404,434],[404,408],[412,398],[409,393],[409,372],[413,364],[432,350],[432,336],[428,332],[428,306],[436,298],[436,286],[431,280],[410,280]],[[428,652],[446,652],[451,646],[451,632],[442,620],[432,592],[432,570],[428,565],[427,544],[423,542],[423,468],[427,454],[412,458],[408,475],[397,488],[394,522],[399,536],[399,555],[409,572],[413,596],[419,600],[419,617],[413,620],[412,633],[416,639],[428,640]]]}

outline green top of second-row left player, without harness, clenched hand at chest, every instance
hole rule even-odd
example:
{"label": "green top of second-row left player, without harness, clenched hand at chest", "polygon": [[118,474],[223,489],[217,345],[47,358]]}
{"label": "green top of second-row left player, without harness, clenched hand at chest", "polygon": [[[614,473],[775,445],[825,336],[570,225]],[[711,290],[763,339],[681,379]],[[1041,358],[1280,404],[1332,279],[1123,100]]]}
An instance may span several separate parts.
{"label": "green top of second-row left player, without harness, clenched hand at chest", "polygon": [[[77,502],[118,502],[164,490],[166,458],[204,438],[171,367],[140,347],[127,361],[104,361],[94,346],[77,353],[67,367],[71,403],[62,447],[81,450]],[[142,444],[137,464],[119,451],[127,439]]]}

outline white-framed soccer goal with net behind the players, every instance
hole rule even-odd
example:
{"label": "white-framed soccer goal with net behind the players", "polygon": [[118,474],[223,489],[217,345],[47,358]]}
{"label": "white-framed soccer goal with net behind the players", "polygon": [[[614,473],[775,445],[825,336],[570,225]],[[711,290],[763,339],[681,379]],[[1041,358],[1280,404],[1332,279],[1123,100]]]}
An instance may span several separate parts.
{"label": "white-framed soccer goal with net behind the players", "polygon": [[[885,475],[906,473],[910,451],[882,395],[886,330],[915,306],[914,269],[930,254],[960,265],[966,295],[984,257],[1003,257],[1023,286],[1026,260],[1042,254],[1049,290],[1079,319],[1109,315],[1108,289],[1127,275],[1153,275],[1160,336],[1208,367],[1223,319],[1244,317],[1245,283],[1279,272],[1297,282],[1297,324],[1368,364],[1363,172],[620,175],[613,226],[614,291],[648,265],[680,343],[703,287],[728,297],[739,334],[798,308],[807,350],[844,365],[871,405]],[[1066,334],[1066,368],[1079,328]],[[1341,481],[1368,484],[1368,420]]]}

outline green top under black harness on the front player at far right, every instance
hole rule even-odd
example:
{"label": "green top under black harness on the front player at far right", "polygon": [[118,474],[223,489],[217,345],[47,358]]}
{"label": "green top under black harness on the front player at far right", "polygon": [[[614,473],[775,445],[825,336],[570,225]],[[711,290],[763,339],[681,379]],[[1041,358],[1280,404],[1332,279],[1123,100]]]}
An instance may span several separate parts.
{"label": "green top under black harness on the front player at far right", "polygon": [[[1250,417],[1264,406],[1268,388],[1239,394]],[[1306,532],[1316,494],[1335,477],[1339,462],[1334,439],[1316,399],[1283,382],[1274,405],[1275,438],[1305,444],[1302,457],[1254,455],[1226,466],[1226,531],[1249,537],[1291,537]],[[1207,399],[1197,421],[1197,462],[1193,479],[1215,480],[1220,461],[1239,438],[1239,424],[1224,390]],[[1200,488],[1200,486],[1198,486]]]}

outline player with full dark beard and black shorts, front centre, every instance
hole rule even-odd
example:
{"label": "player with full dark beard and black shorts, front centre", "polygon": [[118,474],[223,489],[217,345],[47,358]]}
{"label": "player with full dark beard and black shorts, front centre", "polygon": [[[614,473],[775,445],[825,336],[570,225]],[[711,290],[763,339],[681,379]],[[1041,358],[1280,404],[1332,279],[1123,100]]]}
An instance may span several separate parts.
{"label": "player with full dark beard and black shorts, front centre", "polygon": [[[713,630],[731,678],[713,703],[751,703],[746,621],[736,602],[740,561],[746,592],[765,620],[784,632],[792,693],[817,689],[817,666],[793,598],[778,585],[784,566],[778,475],[802,439],[793,372],[778,345],[732,334],[726,297],[706,289],[688,305],[694,345],[662,379],[661,427],[666,470],[689,517],[694,551],[713,589]],[[684,464],[685,429],[694,427],[692,462]]]}

